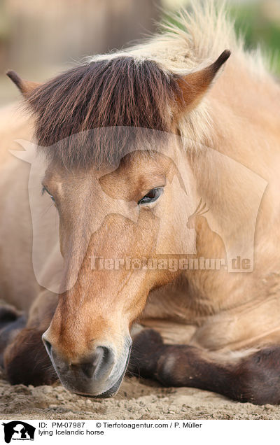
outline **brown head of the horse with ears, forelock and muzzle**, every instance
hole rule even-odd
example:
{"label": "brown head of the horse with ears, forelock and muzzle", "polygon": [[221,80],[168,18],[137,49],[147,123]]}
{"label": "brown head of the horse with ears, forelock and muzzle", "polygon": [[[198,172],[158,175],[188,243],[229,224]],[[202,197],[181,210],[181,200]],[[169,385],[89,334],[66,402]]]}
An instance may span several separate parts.
{"label": "brown head of the horse with ears, forelock and muzzle", "polygon": [[[179,118],[200,104],[229,55],[184,76],[131,56],[97,59],[44,85],[9,73],[35,115],[43,196],[59,216],[62,283],[43,342],[74,393],[116,393],[148,293],[179,274],[133,267],[133,260],[181,252],[186,243],[186,230],[176,228],[186,228],[197,197],[187,162],[187,192],[180,192],[179,142],[162,135],[179,134]],[[158,137],[139,137],[143,129]],[[205,213],[200,205],[189,227]]]}

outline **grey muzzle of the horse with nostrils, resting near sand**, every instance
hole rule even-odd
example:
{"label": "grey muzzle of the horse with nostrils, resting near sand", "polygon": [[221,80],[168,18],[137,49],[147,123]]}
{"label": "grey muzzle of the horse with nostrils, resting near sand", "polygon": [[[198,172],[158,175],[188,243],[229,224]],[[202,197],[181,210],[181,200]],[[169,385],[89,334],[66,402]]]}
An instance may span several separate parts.
{"label": "grey muzzle of the horse with nostrils, resting near sand", "polygon": [[130,360],[130,337],[125,339],[125,346],[119,355],[110,346],[96,346],[86,359],[78,362],[65,360],[55,351],[45,334],[42,340],[59,380],[71,393],[106,398],[118,392]]}

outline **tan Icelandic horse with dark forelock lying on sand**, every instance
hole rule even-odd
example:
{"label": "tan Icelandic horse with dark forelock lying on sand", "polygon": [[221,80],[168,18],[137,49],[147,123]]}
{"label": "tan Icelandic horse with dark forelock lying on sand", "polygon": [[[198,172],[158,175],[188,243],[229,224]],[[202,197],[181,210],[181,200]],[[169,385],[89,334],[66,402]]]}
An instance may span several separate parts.
{"label": "tan Icelandic horse with dark forelock lying on sand", "polygon": [[[43,84],[8,76],[25,104],[0,116],[10,383],[59,379],[111,397],[127,372],[279,404],[280,90],[225,8],[194,4],[147,41]],[[47,199],[58,291],[34,272],[30,166],[18,159],[28,149],[15,139],[46,166],[32,198],[44,227],[35,253],[55,224],[40,213]],[[53,258],[40,263],[49,276]]]}

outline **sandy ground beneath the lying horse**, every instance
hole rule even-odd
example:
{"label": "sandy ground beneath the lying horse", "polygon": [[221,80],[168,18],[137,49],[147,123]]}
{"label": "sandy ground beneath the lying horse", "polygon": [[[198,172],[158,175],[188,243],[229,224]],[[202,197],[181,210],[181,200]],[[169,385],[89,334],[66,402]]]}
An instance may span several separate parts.
{"label": "sandy ground beneath the lying horse", "polygon": [[78,397],[61,385],[10,384],[0,375],[2,419],[280,419],[280,407],[256,406],[193,388],[161,388],[127,378],[107,400]]}

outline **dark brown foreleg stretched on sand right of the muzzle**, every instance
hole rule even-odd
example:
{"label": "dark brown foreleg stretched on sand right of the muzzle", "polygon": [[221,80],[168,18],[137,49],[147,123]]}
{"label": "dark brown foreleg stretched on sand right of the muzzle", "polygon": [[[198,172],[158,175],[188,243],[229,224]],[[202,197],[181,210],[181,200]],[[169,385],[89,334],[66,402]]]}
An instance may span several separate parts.
{"label": "dark brown foreleg stretched on sand right of the muzzle", "polygon": [[218,359],[194,346],[164,344],[154,330],[143,330],[132,346],[129,371],[164,386],[214,391],[239,402],[280,404],[280,346],[228,354]]}

